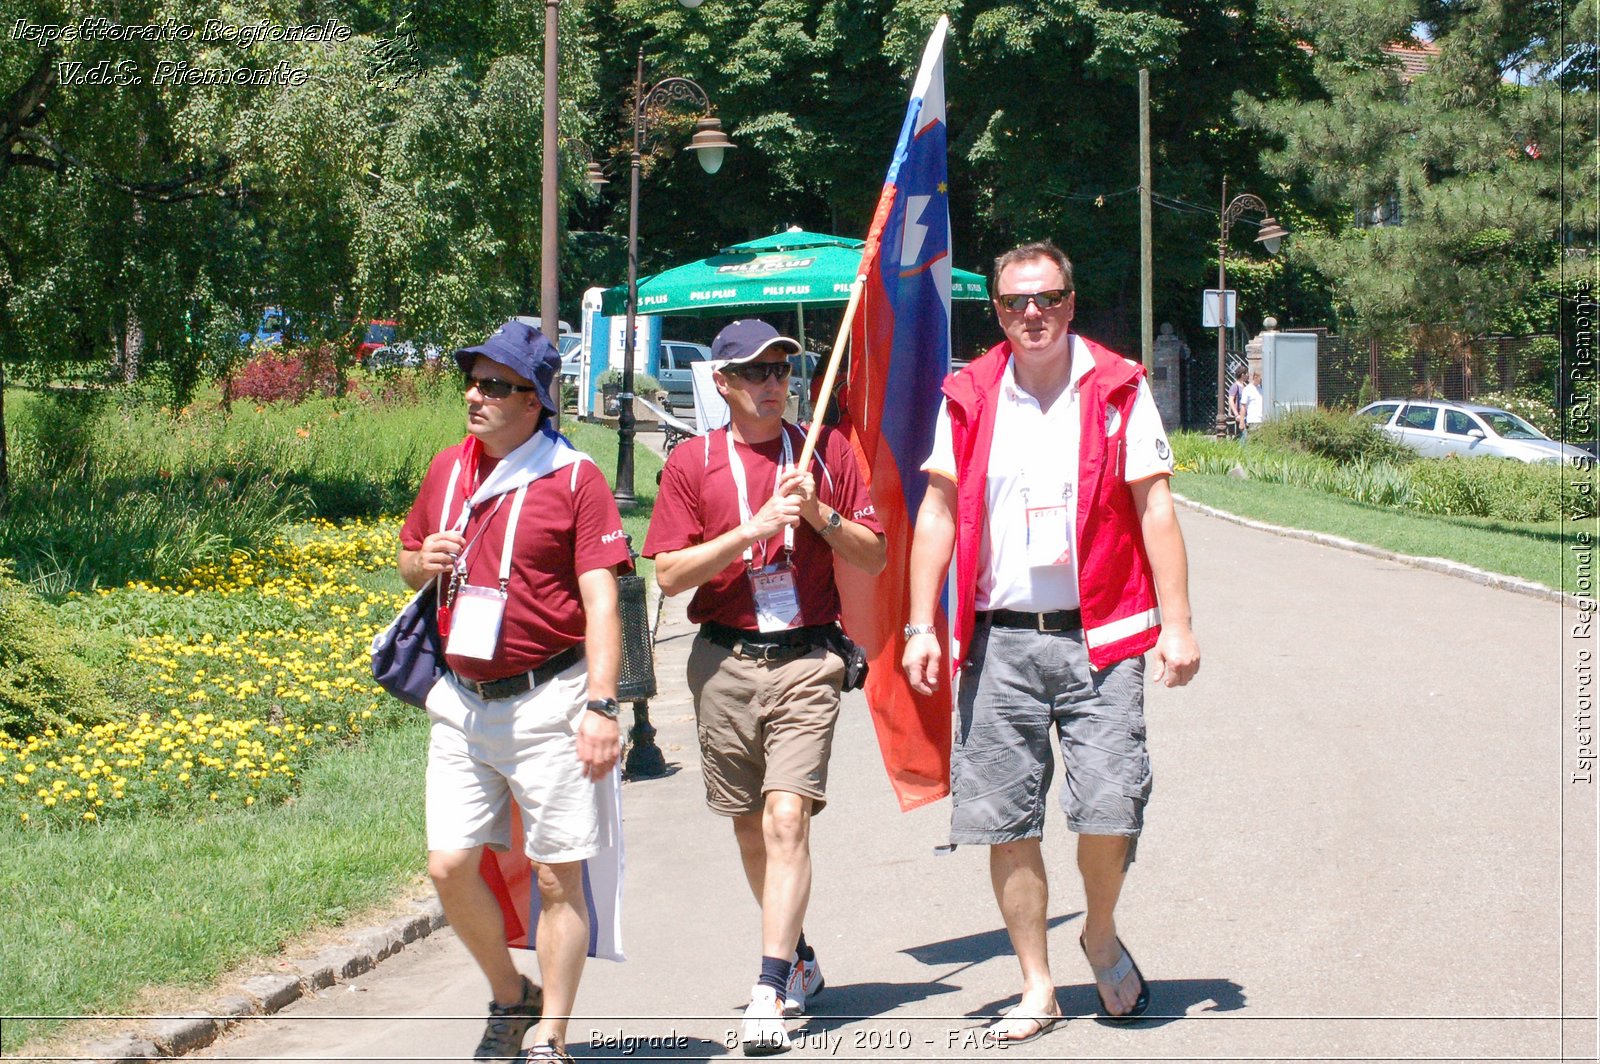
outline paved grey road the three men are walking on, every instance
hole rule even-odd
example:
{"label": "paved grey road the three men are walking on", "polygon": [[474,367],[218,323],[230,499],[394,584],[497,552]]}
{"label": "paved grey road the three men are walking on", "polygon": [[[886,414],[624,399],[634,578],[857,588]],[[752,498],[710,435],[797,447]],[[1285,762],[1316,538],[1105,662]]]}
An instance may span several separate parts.
{"label": "paved grey road the three men are walking on", "polygon": [[[1070,1021],[982,1048],[1018,990],[986,854],[934,856],[946,803],[898,811],[856,694],[814,826],[806,931],[829,989],[787,1059],[1592,1059],[1595,792],[1568,781],[1563,662],[1578,613],[1197,514],[1184,528],[1205,666],[1150,693],[1157,782],[1120,909],[1157,1016],[1093,1019],[1053,813]],[[725,1056],[755,976],[757,907],[702,805],[682,608],[653,704],[677,771],[624,789],[630,960],[589,963],[579,1059]],[[485,998],[442,933],[205,1054],[462,1058]]]}

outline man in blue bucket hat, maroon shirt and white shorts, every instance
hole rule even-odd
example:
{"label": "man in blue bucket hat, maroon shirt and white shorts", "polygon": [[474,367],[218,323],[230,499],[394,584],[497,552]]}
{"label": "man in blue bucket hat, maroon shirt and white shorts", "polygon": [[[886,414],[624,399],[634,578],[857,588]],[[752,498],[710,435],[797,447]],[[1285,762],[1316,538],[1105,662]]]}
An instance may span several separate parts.
{"label": "man in blue bucket hat, maroon shirt and white shorts", "polygon": [[[450,670],[427,698],[429,874],[456,934],[490,981],[477,1058],[565,1061],[566,1021],[589,946],[582,862],[600,848],[600,787],[621,752],[616,574],[627,539],[595,464],[555,432],[560,355],[507,322],[456,352],[467,438],[440,451],[400,530],[400,576],[440,582]],[[539,885],[544,987],[520,974],[499,904],[478,874],[509,850],[510,803]]]}

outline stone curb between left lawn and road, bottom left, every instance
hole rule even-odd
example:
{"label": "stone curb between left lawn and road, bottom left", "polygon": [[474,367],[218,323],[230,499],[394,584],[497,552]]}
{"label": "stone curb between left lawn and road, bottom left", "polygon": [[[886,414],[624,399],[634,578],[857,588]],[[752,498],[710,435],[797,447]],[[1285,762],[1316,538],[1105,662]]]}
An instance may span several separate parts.
{"label": "stone curb between left lawn and road, bottom left", "polygon": [[371,971],[442,926],[445,910],[438,899],[418,901],[414,915],[349,931],[344,942],[315,957],[290,960],[288,971],[245,979],[238,984],[240,994],[211,998],[194,1014],[150,1018],[144,1029],[90,1045],[75,1059],[78,1064],[144,1064],[203,1050],[238,1021],[270,1016],[307,994]]}

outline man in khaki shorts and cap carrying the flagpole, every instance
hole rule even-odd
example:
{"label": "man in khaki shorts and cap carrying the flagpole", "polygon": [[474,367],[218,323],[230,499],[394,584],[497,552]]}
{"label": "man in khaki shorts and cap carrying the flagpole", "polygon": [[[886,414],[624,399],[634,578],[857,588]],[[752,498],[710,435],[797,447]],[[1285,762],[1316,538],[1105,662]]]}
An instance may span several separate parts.
{"label": "man in khaki shorts and cap carrying the flagpole", "polygon": [[699,725],[706,803],[733,819],[762,904],[762,970],[739,1040],[746,1054],[790,1046],[784,1011],[805,1008],[822,971],[802,934],[811,894],[811,816],[822,810],[845,662],[835,557],[862,573],[885,563],[883,530],[843,435],[784,421],[789,355],[800,344],[742,320],[712,342],[731,422],[672,451],[645,538],[669,595],[694,587],[701,626],[688,682]]}

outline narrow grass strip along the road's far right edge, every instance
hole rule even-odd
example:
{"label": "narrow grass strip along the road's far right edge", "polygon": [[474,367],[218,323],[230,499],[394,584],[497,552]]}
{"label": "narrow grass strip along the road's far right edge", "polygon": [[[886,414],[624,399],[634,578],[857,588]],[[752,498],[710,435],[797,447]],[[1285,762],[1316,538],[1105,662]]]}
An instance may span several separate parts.
{"label": "narrow grass strip along the road's far right edge", "polygon": [[1400,554],[1450,558],[1557,589],[1576,586],[1578,557],[1570,544],[1578,531],[1595,531],[1592,520],[1568,523],[1563,530],[1562,522],[1517,525],[1482,517],[1422,517],[1322,491],[1211,474],[1178,474],[1173,491],[1240,517],[1344,536]]}

